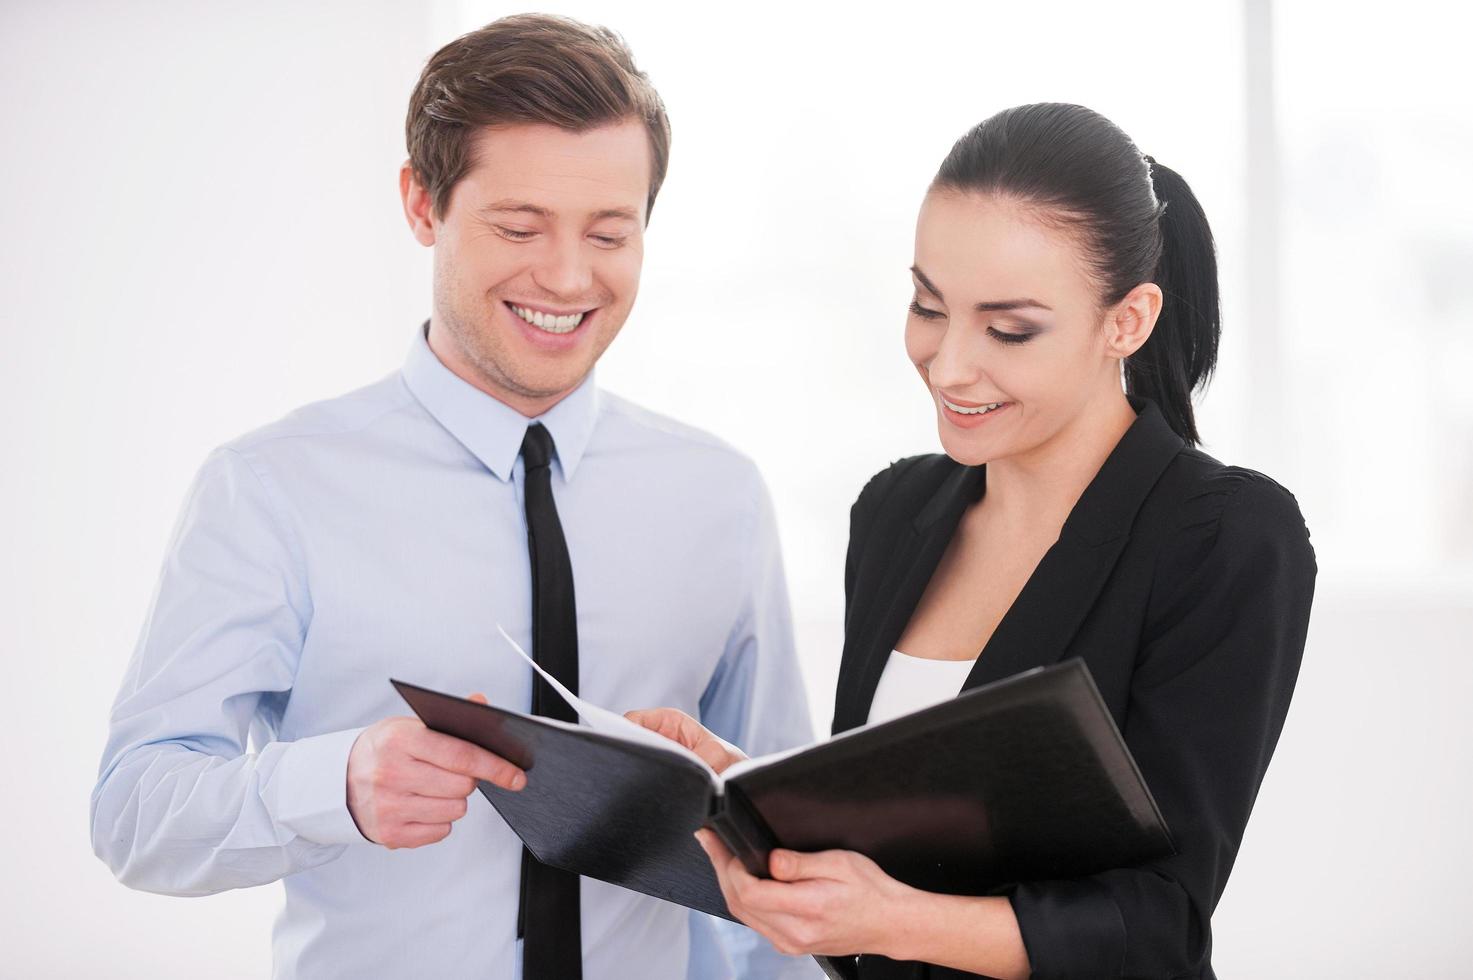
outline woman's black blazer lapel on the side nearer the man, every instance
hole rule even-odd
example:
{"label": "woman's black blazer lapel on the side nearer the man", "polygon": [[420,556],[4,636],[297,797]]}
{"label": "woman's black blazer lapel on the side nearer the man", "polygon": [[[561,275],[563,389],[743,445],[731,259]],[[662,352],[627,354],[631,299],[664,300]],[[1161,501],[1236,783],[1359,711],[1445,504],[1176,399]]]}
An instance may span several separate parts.
{"label": "woman's black blazer lapel on the side nearer the man", "polygon": [[890,651],[921,603],[966,505],[981,497],[985,480],[985,467],[959,466],[907,522],[890,567],[871,597],[871,609],[848,628],[834,697],[834,734],[857,728],[869,716],[869,703]]}

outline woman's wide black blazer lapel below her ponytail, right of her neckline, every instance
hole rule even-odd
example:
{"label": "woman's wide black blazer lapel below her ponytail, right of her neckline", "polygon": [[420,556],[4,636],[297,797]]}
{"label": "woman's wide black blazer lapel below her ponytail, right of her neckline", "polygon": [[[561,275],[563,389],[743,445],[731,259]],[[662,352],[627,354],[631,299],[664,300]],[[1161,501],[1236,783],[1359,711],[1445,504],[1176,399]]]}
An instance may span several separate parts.
{"label": "woman's wide black blazer lapel below her ponytail, right of her neckline", "polygon": [[1186,442],[1155,402],[1130,399],[1136,421],[1080,495],[1038,567],[997,623],[962,690],[1066,654],[1130,541],[1140,505]]}

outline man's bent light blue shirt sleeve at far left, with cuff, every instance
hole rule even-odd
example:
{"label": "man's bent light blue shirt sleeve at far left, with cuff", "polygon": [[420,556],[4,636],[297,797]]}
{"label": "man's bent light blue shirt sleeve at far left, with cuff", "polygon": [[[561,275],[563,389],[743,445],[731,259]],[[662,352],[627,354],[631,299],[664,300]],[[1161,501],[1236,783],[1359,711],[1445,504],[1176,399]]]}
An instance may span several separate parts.
{"label": "man's bent light blue shirt sleeve at far left, with cuff", "polygon": [[130,887],[208,895],[274,881],[362,841],[346,802],[361,729],[247,752],[280,712],[311,619],[268,485],[233,449],[196,476],[109,722],[93,850]]}

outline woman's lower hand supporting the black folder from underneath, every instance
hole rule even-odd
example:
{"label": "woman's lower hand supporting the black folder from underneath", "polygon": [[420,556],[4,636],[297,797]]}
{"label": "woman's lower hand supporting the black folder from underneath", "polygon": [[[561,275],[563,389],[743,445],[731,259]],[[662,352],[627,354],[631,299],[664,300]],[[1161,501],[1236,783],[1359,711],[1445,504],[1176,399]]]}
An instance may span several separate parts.
{"label": "woman's lower hand supporting the black folder from underneath", "polygon": [[798,853],[773,850],[757,878],[720,839],[697,831],[732,915],[767,937],[784,953],[846,956],[901,946],[907,909],[921,895],[853,850]]}

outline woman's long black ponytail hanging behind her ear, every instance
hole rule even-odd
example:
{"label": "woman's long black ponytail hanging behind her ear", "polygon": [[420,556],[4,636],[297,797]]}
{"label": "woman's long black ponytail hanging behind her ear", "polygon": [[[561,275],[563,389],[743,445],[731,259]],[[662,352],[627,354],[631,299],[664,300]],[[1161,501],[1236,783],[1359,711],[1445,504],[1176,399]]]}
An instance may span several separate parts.
{"label": "woman's long black ponytail hanging behind her ear", "polygon": [[1161,258],[1152,281],[1161,286],[1162,305],[1150,339],[1125,360],[1125,391],[1156,402],[1171,427],[1196,445],[1192,392],[1217,365],[1223,327],[1217,251],[1187,181],[1149,156],[1146,162],[1161,202]]}

